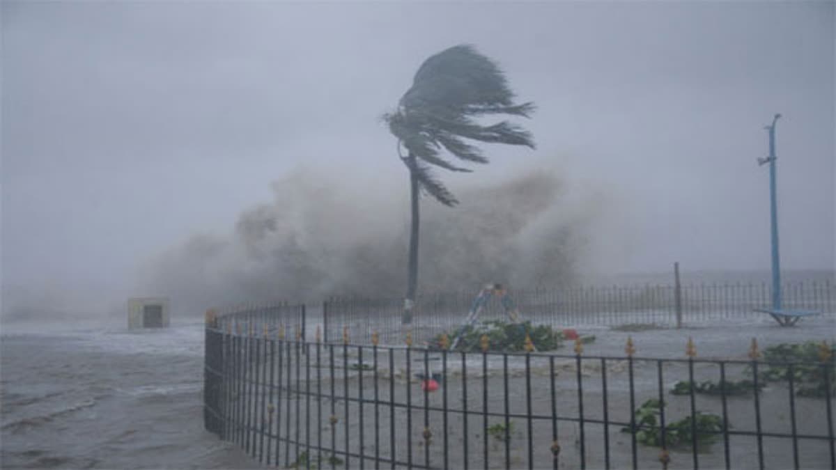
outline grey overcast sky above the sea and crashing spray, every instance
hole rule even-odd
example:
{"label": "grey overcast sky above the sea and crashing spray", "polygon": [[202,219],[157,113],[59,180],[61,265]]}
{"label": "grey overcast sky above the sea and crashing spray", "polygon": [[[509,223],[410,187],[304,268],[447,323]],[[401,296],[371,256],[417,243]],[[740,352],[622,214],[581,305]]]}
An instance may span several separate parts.
{"label": "grey overcast sky above the sea and crashing spray", "polygon": [[834,266],[833,2],[3,1],[2,14],[5,287],[130,291],[145,259],[228,232],[300,165],[405,197],[380,115],[457,43],[538,105],[536,152],[489,148],[464,177],[549,165],[608,192],[628,215],[612,233],[631,240],[619,272],[768,268],[756,158],[777,112],[782,264]]}

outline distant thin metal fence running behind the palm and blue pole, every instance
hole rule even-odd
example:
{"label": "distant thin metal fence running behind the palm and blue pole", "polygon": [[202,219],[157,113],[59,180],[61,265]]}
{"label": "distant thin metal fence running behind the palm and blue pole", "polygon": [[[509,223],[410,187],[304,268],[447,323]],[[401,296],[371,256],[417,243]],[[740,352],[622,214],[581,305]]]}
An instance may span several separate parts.
{"label": "distant thin metal fence running behind the palm and blue pole", "polygon": [[[772,304],[769,284],[699,284],[635,287],[579,287],[567,289],[511,289],[510,294],[523,319],[533,324],[567,328],[591,324],[630,323],[676,325],[701,324],[717,319],[747,319],[764,314],[753,309]],[[460,326],[471,309],[476,292],[428,294],[415,301],[410,331],[416,340],[428,340]],[[825,281],[784,283],[785,309],[836,312],[836,284]],[[405,333],[400,315],[403,299],[334,298],[323,304],[324,338],[339,340],[349,328],[352,338],[368,342],[380,331],[384,343],[397,342]],[[503,319],[504,309],[492,299],[482,319]]]}

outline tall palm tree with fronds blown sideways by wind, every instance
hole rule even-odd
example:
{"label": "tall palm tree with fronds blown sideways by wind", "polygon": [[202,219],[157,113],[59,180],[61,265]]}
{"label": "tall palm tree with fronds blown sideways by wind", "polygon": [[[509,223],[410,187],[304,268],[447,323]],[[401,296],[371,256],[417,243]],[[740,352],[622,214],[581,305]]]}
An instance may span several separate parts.
{"label": "tall palm tree with fronds blown sideways by wind", "polygon": [[398,139],[400,160],[410,172],[412,224],[404,324],[412,322],[418,284],[419,196],[421,192],[429,194],[447,207],[458,203],[431,167],[471,171],[441,158],[442,150],[463,161],[487,163],[482,151],[468,140],[534,148],[531,133],[522,127],[504,120],[482,125],[477,120],[487,115],[528,117],[533,112],[532,103],[515,105],[513,99],[496,63],[470,45],[458,45],[426,59],[415,73],[412,87],[401,97],[398,110],[385,115]]}

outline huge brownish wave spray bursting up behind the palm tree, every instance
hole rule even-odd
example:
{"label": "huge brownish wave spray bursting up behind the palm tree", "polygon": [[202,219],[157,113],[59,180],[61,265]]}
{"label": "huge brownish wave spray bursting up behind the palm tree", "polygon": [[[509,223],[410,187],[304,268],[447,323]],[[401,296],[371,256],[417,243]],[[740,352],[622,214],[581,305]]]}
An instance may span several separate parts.
{"label": "huge brownish wave spray bursting up behind the palm tree", "polygon": [[[578,283],[594,257],[596,227],[616,202],[568,186],[557,168],[541,168],[466,184],[455,208],[423,197],[420,291]],[[308,168],[272,189],[273,202],[242,212],[227,234],[196,235],[152,260],[146,290],[196,314],[247,302],[403,295],[406,187],[389,191]]]}

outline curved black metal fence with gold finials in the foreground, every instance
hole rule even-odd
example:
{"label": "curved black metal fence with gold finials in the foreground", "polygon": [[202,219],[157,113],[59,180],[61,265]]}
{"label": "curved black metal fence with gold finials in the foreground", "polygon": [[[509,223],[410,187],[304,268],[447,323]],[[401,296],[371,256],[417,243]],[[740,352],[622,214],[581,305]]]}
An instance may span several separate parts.
{"label": "curved black metal fence with gold finials in the foreground", "polygon": [[570,355],[431,351],[347,330],[305,341],[284,326],[303,311],[207,314],[206,429],[269,466],[836,467],[833,346],[803,361],[756,343],[749,360],[692,344],[640,357],[631,340],[619,357],[579,341]]}

